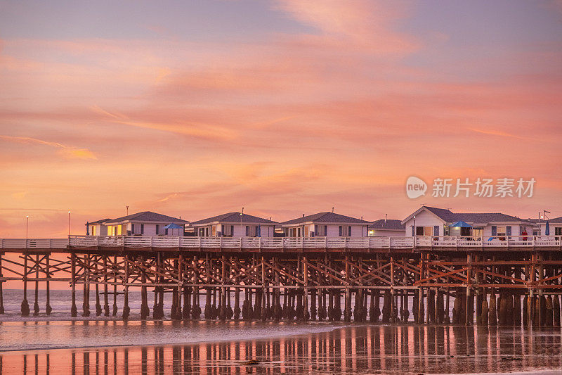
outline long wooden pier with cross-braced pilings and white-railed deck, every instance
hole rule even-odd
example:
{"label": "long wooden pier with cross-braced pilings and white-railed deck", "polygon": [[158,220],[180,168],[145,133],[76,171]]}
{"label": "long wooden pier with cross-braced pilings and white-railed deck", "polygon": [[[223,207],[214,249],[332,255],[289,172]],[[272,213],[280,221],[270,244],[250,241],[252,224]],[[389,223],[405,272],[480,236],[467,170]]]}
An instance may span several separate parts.
{"label": "long wooden pier with cross-braced pilings and white-railed deck", "polygon": [[141,319],[162,319],[172,293],[176,320],[560,326],[561,279],[561,236],[0,239],[0,313],[17,280],[23,316],[49,314],[50,283],[66,281],[72,317],[129,319],[137,288]]}

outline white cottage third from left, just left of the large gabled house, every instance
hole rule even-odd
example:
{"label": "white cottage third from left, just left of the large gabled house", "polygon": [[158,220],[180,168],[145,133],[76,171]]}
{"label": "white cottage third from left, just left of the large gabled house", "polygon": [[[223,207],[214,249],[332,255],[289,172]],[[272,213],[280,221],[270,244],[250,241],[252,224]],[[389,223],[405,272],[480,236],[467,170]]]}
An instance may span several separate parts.
{"label": "white cottage third from left, just left of the large gabled house", "polygon": [[281,223],[287,237],[366,237],[369,224],[365,220],[334,212],[303,215]]}

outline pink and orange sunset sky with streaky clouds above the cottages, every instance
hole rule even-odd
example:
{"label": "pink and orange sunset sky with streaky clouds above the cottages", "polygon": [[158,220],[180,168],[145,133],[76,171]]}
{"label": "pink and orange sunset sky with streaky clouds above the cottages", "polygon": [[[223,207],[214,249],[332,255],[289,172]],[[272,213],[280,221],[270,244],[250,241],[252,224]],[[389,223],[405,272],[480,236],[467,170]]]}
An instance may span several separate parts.
{"label": "pink and orange sunset sky with streaky clouds above the cottages", "polygon": [[[559,0],[0,0],[0,238],[126,205],[562,216],[561,47]],[[536,184],[410,199],[410,176]]]}

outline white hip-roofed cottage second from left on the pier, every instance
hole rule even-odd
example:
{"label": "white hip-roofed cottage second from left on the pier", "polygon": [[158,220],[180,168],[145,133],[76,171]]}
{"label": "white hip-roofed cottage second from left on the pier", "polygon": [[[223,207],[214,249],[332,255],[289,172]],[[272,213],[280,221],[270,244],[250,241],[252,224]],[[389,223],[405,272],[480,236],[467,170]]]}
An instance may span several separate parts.
{"label": "white hip-roofed cottage second from left on the pier", "polygon": [[228,212],[191,223],[195,236],[200,237],[273,237],[279,225],[242,212]]}

